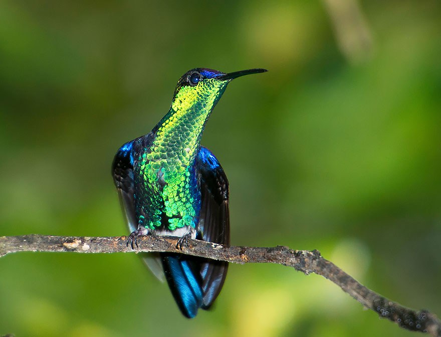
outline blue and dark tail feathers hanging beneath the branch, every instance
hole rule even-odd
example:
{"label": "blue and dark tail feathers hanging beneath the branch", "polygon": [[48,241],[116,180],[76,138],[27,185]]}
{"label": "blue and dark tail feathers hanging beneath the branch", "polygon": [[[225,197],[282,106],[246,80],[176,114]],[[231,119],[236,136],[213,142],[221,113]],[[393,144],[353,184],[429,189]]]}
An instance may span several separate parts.
{"label": "blue and dark tail feathers hanging beneath the branch", "polygon": [[228,264],[182,254],[160,256],[168,286],[182,314],[193,318],[197,309],[208,309],[224,284]]}

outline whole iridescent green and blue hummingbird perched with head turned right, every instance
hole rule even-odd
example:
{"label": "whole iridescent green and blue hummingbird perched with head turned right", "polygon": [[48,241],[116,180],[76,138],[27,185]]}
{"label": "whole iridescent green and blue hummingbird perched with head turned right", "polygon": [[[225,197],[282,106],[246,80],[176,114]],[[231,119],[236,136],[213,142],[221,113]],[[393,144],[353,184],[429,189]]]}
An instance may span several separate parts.
{"label": "whole iridescent green and blue hummingbird perched with head turned right", "polygon": [[[229,183],[218,160],[200,145],[205,124],[231,80],[267,71],[223,73],[194,68],[177,82],[168,113],[150,133],[117,151],[112,175],[131,232],[127,246],[140,235],[178,237],[230,244]],[[153,274],[167,280],[188,318],[207,310],[219,294],[228,263],[179,253],[144,253]]]}

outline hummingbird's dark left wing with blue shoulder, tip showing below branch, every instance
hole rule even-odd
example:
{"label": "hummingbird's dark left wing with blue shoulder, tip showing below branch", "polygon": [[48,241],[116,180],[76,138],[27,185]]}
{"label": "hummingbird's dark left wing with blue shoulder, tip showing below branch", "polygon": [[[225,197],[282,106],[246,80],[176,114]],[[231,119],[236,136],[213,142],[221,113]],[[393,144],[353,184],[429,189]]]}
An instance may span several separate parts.
{"label": "hummingbird's dark left wing with blue shoulder, tip showing below branch", "polygon": [[[113,182],[118,191],[121,208],[124,213],[124,219],[130,233],[138,229],[138,219],[135,212],[135,186],[133,178],[133,143],[128,142],[121,146],[117,151],[112,164]],[[164,272],[162,270],[161,260],[157,253],[140,254],[144,263],[152,273],[160,280],[164,281]]]}

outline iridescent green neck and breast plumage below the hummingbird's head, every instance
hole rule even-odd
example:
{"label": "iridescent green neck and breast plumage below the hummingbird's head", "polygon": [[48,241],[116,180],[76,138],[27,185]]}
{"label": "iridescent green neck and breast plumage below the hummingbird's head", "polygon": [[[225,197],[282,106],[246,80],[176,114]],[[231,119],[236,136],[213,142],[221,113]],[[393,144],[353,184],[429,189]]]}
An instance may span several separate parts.
{"label": "iridescent green neck and breast plumage below the hummingbird's head", "polygon": [[194,101],[189,104],[187,99],[176,97],[169,113],[155,127],[150,149],[138,160],[148,199],[147,218],[140,222],[151,230],[194,228],[199,220],[200,193],[193,164],[215,102]]}

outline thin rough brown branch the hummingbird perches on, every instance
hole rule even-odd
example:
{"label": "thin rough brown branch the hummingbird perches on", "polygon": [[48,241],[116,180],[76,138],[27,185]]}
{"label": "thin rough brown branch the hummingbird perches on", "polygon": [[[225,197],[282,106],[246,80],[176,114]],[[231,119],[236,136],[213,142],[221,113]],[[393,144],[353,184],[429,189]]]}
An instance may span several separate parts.
{"label": "thin rough brown branch the hummingbird perches on", "polygon": [[[59,237],[46,235],[23,235],[0,237],[0,257],[16,252],[77,252],[118,253],[133,252],[126,247],[127,237]],[[374,310],[380,317],[387,318],[398,326],[441,336],[441,321],[427,310],[412,310],[377,294],[358,283],[333,263],[325,260],[320,252],[291,250],[285,246],[272,248],[223,246],[199,240],[188,240],[189,247],[176,249],[173,237],[138,237],[139,248],[135,252],[185,253],[213,260],[233,263],[277,263],[293,267],[308,275],[315,273],[331,280],[365,308]]]}

